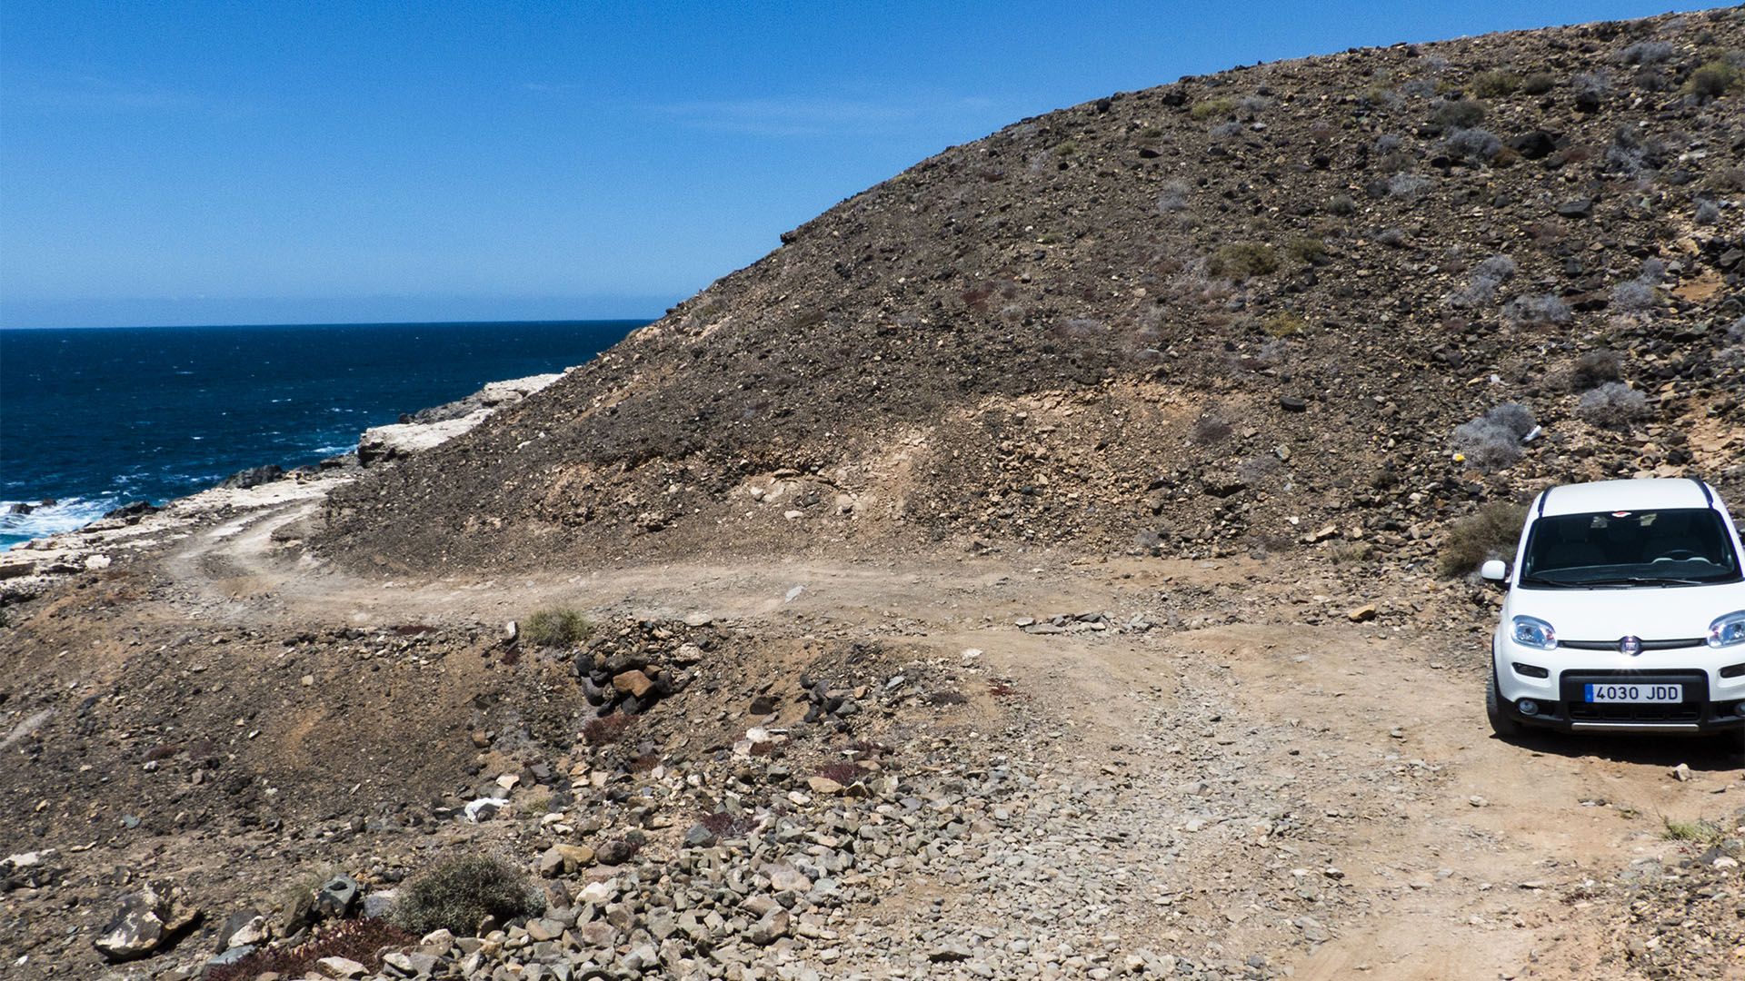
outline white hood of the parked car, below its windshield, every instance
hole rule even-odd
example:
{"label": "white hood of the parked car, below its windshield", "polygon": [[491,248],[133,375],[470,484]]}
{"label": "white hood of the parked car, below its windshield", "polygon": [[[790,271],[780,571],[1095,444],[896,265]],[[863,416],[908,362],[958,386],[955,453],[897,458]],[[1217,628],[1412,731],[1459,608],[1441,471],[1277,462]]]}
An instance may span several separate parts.
{"label": "white hood of the parked car, below its windshield", "polygon": [[1504,616],[1537,616],[1558,641],[1679,641],[1708,635],[1717,616],[1745,609],[1745,583],[1595,590],[1509,590]]}

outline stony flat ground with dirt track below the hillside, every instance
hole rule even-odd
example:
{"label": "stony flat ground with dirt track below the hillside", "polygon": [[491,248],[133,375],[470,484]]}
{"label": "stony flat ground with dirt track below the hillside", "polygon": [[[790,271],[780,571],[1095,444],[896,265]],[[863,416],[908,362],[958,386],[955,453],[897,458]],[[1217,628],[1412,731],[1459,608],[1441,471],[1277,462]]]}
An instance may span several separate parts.
{"label": "stony flat ground with dirt track below the hillside", "polygon": [[[9,976],[187,978],[239,913],[295,946],[332,876],[380,911],[476,854],[544,915],[332,950],[499,979],[1745,965],[1740,745],[1492,738],[1462,581],[1330,548],[363,578],[286,539],[311,506],[105,532],[108,569],[7,609]],[[504,642],[553,604],[595,637]],[[590,744],[625,672],[646,710]],[[108,965],[143,883],[202,920]]]}

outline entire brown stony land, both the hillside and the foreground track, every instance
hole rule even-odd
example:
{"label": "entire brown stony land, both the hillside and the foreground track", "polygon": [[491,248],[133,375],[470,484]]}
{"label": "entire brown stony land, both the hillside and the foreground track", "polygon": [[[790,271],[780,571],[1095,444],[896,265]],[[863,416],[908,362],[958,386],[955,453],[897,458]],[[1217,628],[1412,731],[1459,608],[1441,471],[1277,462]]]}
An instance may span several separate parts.
{"label": "entire brown stony land, both the hillside and the foreground track", "polygon": [[[0,971],[1742,976],[1738,740],[1492,738],[1438,578],[1745,501],[1742,99],[1736,9],[1112,94],[435,449],[9,553]],[[375,918],[489,855],[543,911]]]}

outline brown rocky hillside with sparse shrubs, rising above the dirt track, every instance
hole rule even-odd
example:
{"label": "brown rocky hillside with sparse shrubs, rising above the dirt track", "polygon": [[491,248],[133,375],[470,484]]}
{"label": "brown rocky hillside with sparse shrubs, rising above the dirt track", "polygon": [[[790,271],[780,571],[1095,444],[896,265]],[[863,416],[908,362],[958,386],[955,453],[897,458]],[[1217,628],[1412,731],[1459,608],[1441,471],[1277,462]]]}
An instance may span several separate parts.
{"label": "brown rocky hillside with sparse shrubs, rising above the dirt track", "polygon": [[1417,562],[1548,482],[1693,473],[1740,501],[1742,89],[1729,9],[1026,119],[335,494],[319,546]]}

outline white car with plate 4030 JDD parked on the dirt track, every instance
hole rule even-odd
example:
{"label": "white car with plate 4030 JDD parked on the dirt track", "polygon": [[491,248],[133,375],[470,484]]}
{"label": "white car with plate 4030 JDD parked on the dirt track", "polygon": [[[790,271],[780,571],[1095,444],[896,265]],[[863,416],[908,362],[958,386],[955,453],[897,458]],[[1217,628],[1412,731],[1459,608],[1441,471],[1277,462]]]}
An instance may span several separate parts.
{"label": "white car with plate 4030 JDD parked on the dirt track", "polygon": [[1740,532],[1701,480],[1605,480],[1527,508],[1490,642],[1501,737],[1745,728]]}

